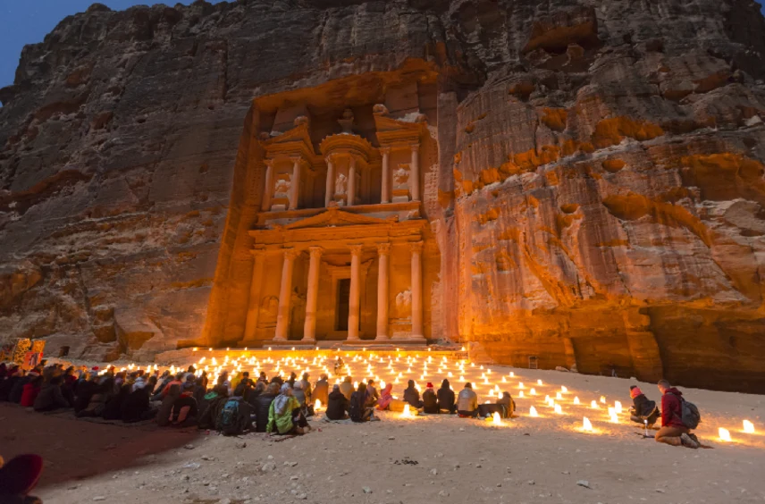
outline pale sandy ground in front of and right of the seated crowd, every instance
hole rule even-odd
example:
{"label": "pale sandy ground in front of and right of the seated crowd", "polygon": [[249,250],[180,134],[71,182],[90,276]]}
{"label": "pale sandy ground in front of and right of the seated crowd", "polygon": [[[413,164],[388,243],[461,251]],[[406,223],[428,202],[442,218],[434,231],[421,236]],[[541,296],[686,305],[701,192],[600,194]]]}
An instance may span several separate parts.
{"label": "pale sandy ground in front of and right of the seated crowd", "polygon": [[[496,376],[509,371],[492,367]],[[590,409],[601,395],[609,404],[621,399],[626,409],[634,381],[512,371],[513,383],[524,380],[526,392],[534,385],[540,395],[516,398],[519,416],[500,426],[389,413],[367,424],[315,418],[313,433],[274,441],[255,433],[226,438],[90,424],[5,404],[0,453],[42,454],[46,470],[36,493],[57,503],[765,501],[762,396],[685,390],[702,409],[698,433],[714,449],[673,448],[638,436],[641,427],[629,424],[626,413],[620,424],[610,424],[605,408]],[[538,379],[545,384],[537,386]],[[452,384],[461,388],[456,379]],[[563,415],[555,415],[542,399],[560,385],[569,392],[560,401]],[[655,385],[640,385],[659,399]],[[581,406],[573,405],[575,396]],[[528,416],[533,405],[538,418]],[[579,430],[582,416],[591,418],[596,433]],[[758,433],[742,433],[744,418]],[[733,442],[718,440],[719,426],[730,430]]]}

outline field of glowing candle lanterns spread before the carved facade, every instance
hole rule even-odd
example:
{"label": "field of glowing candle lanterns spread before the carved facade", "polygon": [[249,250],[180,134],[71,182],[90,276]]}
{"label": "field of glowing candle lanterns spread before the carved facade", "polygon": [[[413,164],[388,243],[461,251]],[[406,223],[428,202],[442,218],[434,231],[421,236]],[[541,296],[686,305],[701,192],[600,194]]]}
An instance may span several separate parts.
{"label": "field of glowing candle lanterns spread before the carved facade", "polygon": [[[269,349],[270,350],[270,349]],[[318,350],[318,349],[317,349]],[[365,355],[366,354],[366,355]],[[428,357],[420,357],[419,354],[416,354],[414,357],[412,355],[407,355],[406,357],[402,357],[399,353],[397,357],[391,357],[388,356],[387,359],[383,357],[375,356],[374,353],[366,353],[366,351],[362,352],[362,355],[353,355],[351,357],[350,354],[345,354],[344,356],[346,359],[348,359],[348,362],[343,362],[343,366],[341,369],[341,372],[338,375],[332,374],[332,371],[330,370],[330,365],[333,365],[332,357],[326,355],[326,354],[319,354],[313,359],[308,361],[306,357],[282,357],[279,359],[274,359],[273,357],[265,357],[263,359],[259,359],[257,357],[235,357],[231,359],[228,355],[223,357],[223,362],[219,363],[215,357],[211,357],[209,361],[207,361],[206,357],[201,357],[198,359],[197,365],[199,368],[197,369],[196,373],[199,375],[203,371],[207,372],[208,377],[212,380],[216,380],[217,377],[220,374],[223,374],[224,371],[228,372],[229,379],[233,380],[234,376],[237,374],[240,374],[243,372],[244,367],[251,366],[251,369],[255,375],[260,374],[261,370],[266,371],[266,374],[268,374],[269,377],[273,376],[274,374],[281,374],[284,376],[285,374],[289,374],[288,370],[295,370],[296,373],[302,374],[302,373],[311,373],[312,367],[316,370],[320,370],[320,372],[327,374],[330,379],[334,378],[334,382],[339,383],[340,382],[340,375],[348,375],[353,376],[354,374],[366,374],[367,376],[374,376],[375,382],[377,382],[380,386],[380,388],[384,388],[386,382],[381,379],[380,374],[378,374],[375,370],[375,365],[386,365],[386,369],[382,372],[383,374],[388,374],[390,376],[389,379],[392,380],[392,383],[399,384],[401,380],[404,379],[405,376],[412,376],[415,374],[415,370],[413,369],[413,366],[416,366],[417,364],[422,364],[422,369],[418,373],[418,378],[421,382],[428,379],[429,376],[446,376],[448,378],[454,378],[455,375],[458,375],[458,381],[459,382],[467,382],[466,374],[467,375],[475,375],[479,371],[480,373],[480,379],[476,379],[473,383],[473,389],[474,391],[479,391],[483,386],[488,386],[489,390],[487,394],[484,394],[485,397],[488,398],[499,398],[501,397],[501,390],[500,385],[503,387],[506,385],[509,385],[509,379],[516,378],[516,375],[514,372],[510,371],[507,376],[501,375],[498,382],[495,382],[494,386],[492,387],[492,383],[490,382],[490,377],[492,375],[496,376],[496,373],[492,372],[492,369],[485,369],[483,365],[476,368],[475,363],[467,363],[465,360],[459,360],[459,361],[452,361],[447,357],[441,357],[441,359],[434,359],[432,356]],[[366,365],[366,367],[364,367]],[[407,369],[405,371],[399,370],[398,367],[403,367],[403,365],[407,366]],[[428,366],[437,366],[437,369],[435,373],[431,373],[428,369]],[[132,370],[136,369],[136,365],[129,365],[127,368],[122,368],[123,370]],[[157,366],[153,366],[153,370],[157,371]],[[171,374],[176,373],[176,371],[180,370],[176,369],[174,365],[170,366],[169,368]],[[453,370],[453,371],[452,371]],[[149,365],[147,367],[147,372],[152,371],[152,366]],[[405,374],[406,373],[406,374]],[[364,382],[368,382],[368,379],[363,380]],[[421,391],[421,387],[417,382],[415,382],[416,389],[418,391]],[[534,387],[531,387],[528,389],[528,396],[531,397],[539,397],[538,392],[536,391],[536,388],[543,388],[548,387],[549,385],[545,385],[542,380],[537,380]],[[358,387],[358,382],[354,382],[354,387]],[[517,389],[517,394],[515,397],[518,399],[525,399],[525,392],[527,390],[526,385],[524,382],[517,382],[517,386],[515,387]],[[555,392],[555,397],[552,398],[550,395],[546,395],[544,398],[544,405],[547,407],[551,407],[552,411],[556,415],[565,415],[563,411],[563,407],[561,406],[560,401],[564,401],[564,394],[567,394],[568,390],[567,387],[561,386],[559,391]],[[396,396],[394,395],[394,398]],[[485,399],[484,397],[484,399]],[[485,400],[486,403],[490,402],[490,400]],[[571,404],[573,406],[584,406],[582,405],[580,399],[578,396],[575,396],[575,398],[571,401]],[[600,398],[600,404],[605,405],[606,404],[606,398],[601,396]],[[408,406],[408,405],[407,405]],[[321,404],[316,404],[315,407],[321,407]],[[591,409],[601,409],[601,406],[599,405],[599,401],[593,399],[590,402],[590,408]],[[608,421],[611,424],[618,424],[619,418],[618,416],[622,414],[623,408],[620,401],[614,401],[613,407],[608,407]],[[412,414],[410,411],[408,411],[408,407],[405,407],[404,412],[402,413],[403,417],[411,417]],[[530,406],[528,409],[528,416],[530,417],[539,417],[539,412],[537,411],[537,408],[534,406]],[[499,415],[494,415],[492,417],[492,423],[493,424],[502,424],[502,420]],[[592,421],[587,417],[583,416],[582,419],[582,426],[580,427],[580,430],[585,433],[594,433],[596,432],[593,428]],[[749,420],[744,420],[744,429],[742,431],[743,433],[752,434],[755,433],[754,424],[750,422]],[[723,427],[719,427],[719,440],[720,441],[732,441],[730,431]]]}

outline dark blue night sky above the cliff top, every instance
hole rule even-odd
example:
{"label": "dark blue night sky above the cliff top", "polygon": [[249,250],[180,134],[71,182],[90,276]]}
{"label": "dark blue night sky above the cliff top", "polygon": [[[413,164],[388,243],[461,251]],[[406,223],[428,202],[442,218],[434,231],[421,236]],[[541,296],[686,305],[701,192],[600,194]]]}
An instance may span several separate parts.
{"label": "dark blue night sky above the cliff top", "polygon": [[[190,4],[192,0],[172,0],[168,4]],[[217,3],[221,0],[213,0]],[[13,84],[21,47],[41,42],[64,17],[85,11],[93,0],[0,0],[0,88]],[[114,10],[127,9],[141,2],[101,0]]]}

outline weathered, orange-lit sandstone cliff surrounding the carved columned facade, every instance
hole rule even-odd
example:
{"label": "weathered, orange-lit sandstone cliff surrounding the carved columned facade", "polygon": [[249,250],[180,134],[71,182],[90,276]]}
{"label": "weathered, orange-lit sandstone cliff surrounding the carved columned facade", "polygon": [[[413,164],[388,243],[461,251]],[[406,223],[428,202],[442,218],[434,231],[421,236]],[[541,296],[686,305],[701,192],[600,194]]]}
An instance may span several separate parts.
{"label": "weathered, orange-lit sandstone cliff surrounding the carved columned facade", "polygon": [[0,90],[0,332],[87,357],[239,340],[254,98],[408,68],[438,74],[433,337],[761,390],[750,0],[96,4]]}

